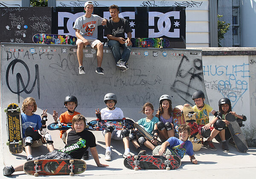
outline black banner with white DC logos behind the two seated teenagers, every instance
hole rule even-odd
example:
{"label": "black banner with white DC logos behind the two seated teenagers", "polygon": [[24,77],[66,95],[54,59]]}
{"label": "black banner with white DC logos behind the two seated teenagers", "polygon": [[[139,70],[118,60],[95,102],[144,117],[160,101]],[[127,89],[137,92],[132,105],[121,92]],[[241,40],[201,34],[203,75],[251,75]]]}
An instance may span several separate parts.
{"label": "black banner with white DC logos behind the two seated teenagers", "polygon": [[[119,7],[119,17],[129,21],[132,38],[167,38],[173,48],[186,48],[185,7]],[[76,18],[84,15],[83,7],[52,8],[52,34],[74,35]],[[108,7],[95,7],[93,14],[110,19]],[[106,42],[103,27],[98,28],[98,39]]]}

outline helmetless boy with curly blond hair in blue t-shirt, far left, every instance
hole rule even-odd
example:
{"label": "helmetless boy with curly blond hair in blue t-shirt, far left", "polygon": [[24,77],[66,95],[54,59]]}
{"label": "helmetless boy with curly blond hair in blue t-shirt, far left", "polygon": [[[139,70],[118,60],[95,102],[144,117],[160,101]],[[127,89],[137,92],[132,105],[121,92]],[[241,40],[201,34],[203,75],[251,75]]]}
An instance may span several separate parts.
{"label": "helmetless boy with curly blond hair in blue t-shirt, far left", "polygon": [[[54,150],[52,136],[46,132],[46,120],[42,118],[47,116],[47,110],[44,110],[43,114],[34,114],[37,110],[35,99],[28,97],[24,99],[22,104],[21,121],[22,121],[22,138],[23,147],[25,148],[27,160],[31,160],[32,149],[31,147],[39,147],[43,144],[47,144],[49,152]],[[41,136],[38,131],[44,136]]]}

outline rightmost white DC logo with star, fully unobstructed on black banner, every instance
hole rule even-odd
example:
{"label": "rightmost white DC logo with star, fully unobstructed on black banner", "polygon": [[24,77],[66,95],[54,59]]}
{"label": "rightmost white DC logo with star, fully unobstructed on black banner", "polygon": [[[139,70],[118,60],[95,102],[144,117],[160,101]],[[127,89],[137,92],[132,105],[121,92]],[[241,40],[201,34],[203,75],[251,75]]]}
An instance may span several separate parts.
{"label": "rightmost white DC logo with star, fully unobstructed on black banner", "polygon": [[[154,17],[159,17],[157,24],[154,24]],[[174,17],[176,22],[171,22],[169,17]],[[172,25],[179,28],[180,20],[180,12],[172,11],[172,12],[148,12],[148,26],[156,26],[159,32],[154,32],[154,29],[148,29],[148,37],[149,38],[157,38],[165,35],[169,38],[180,38],[180,29],[174,29],[174,32],[169,32]],[[165,23],[165,26],[163,24]],[[172,24],[173,23],[173,24]]]}

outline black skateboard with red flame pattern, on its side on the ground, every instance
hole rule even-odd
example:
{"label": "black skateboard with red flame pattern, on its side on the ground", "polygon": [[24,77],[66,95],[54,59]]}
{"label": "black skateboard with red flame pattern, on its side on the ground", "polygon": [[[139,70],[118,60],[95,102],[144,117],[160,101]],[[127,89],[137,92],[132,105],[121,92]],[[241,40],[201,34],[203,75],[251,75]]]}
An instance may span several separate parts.
{"label": "black skateboard with red flame pattern, on its side on the ground", "polygon": [[124,165],[134,170],[174,170],[180,167],[181,161],[177,156],[128,156],[124,159]]}

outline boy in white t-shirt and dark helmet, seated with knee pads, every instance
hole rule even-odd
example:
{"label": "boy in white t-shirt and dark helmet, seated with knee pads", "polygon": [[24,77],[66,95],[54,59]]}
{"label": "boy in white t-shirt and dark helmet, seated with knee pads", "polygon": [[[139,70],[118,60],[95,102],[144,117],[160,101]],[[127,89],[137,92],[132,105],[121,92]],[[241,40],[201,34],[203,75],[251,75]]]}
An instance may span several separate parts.
{"label": "boy in white t-shirt and dark helmet, seated with knee pads", "polygon": [[[107,119],[122,119],[124,114],[119,107],[115,107],[117,98],[114,93],[108,93],[104,96],[104,102],[107,107],[103,108],[99,112],[96,110],[96,116],[99,119],[107,120]],[[114,130],[112,126],[106,127],[105,130],[102,131],[103,136],[105,136],[105,143],[106,143],[106,153],[105,153],[105,160],[111,161],[111,139],[115,140],[123,140],[125,146],[125,153],[123,157],[131,156],[129,149],[129,134],[130,131],[127,129],[124,130]]]}

